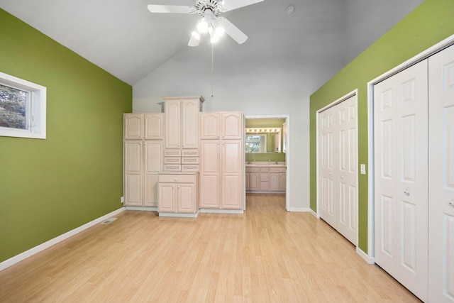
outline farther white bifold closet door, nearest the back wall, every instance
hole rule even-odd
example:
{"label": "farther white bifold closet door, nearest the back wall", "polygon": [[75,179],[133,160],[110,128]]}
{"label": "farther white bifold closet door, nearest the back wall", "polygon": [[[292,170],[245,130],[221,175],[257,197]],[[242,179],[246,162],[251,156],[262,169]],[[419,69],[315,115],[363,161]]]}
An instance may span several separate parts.
{"label": "farther white bifold closet door, nearest the back wall", "polygon": [[358,244],[357,97],[319,116],[319,214],[351,243]]}

